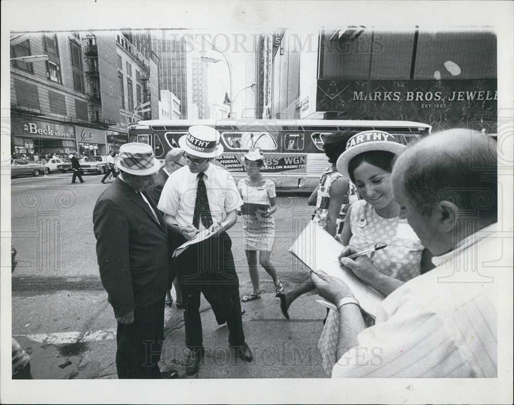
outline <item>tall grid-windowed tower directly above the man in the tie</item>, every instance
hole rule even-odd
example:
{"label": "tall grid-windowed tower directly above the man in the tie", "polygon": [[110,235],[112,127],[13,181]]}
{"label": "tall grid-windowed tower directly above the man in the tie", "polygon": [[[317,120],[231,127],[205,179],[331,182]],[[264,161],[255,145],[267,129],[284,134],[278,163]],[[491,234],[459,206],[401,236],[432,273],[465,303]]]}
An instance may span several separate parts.
{"label": "tall grid-windowed tower directly above the man in the tie", "polygon": [[[156,31],[153,49],[159,58],[159,88],[169,90],[180,100],[180,115],[188,118],[188,88],[186,83],[186,40],[170,31]],[[191,97],[191,94],[189,94]]]}

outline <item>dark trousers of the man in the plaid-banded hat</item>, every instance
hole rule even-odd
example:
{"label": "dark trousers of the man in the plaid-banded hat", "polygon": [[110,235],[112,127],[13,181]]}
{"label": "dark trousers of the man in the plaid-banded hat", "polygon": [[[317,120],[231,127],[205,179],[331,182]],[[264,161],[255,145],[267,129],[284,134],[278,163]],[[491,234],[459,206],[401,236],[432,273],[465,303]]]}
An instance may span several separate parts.
{"label": "dark trousers of the man in the plaid-banded hat", "polygon": [[164,297],[134,310],[134,322],[118,323],[118,378],[160,378],[158,362],[164,340]]}

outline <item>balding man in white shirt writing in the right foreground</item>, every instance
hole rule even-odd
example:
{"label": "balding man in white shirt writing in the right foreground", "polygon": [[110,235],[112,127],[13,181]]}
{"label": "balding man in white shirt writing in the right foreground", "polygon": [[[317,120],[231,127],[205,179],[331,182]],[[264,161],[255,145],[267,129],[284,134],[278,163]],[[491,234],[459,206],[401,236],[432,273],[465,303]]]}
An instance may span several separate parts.
{"label": "balding man in white shirt writing in the right foreground", "polygon": [[[332,377],[496,377],[498,287],[511,271],[498,262],[496,142],[467,129],[431,135],[400,155],[392,181],[436,267],[386,297],[367,329],[345,283],[311,276],[344,325]],[[365,256],[340,260],[376,274]]]}

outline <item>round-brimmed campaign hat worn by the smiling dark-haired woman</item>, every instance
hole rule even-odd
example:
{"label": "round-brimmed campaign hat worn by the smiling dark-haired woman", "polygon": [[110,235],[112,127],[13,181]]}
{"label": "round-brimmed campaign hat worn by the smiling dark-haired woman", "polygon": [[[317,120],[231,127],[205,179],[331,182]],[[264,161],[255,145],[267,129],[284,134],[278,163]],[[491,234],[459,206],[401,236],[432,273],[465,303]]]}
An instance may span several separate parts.
{"label": "round-brimmed campaign hat worn by the smiling dark-haired woman", "polygon": [[337,171],[350,178],[348,164],[357,155],[370,150],[384,150],[398,156],[406,146],[399,143],[393,135],[384,131],[363,131],[356,133],[346,142],[346,150],[337,159]]}

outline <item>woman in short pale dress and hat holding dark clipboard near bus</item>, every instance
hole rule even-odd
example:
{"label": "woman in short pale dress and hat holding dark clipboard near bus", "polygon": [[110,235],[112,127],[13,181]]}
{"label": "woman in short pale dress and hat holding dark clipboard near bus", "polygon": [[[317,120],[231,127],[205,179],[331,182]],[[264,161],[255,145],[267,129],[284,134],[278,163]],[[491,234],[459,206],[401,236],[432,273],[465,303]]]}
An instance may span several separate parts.
{"label": "woman in short pale dress and hat holding dark clipboard near bus", "polygon": [[257,252],[259,252],[259,263],[273,279],[276,294],[282,293],[284,286],[277,277],[277,269],[269,259],[275,239],[275,220],[272,217],[277,210],[275,184],[261,174],[264,157],[260,148],[250,148],[243,162],[248,176],[237,182],[237,189],[245,203],[242,210],[243,235],[253,286],[253,292],[241,299],[247,302],[261,298]]}

